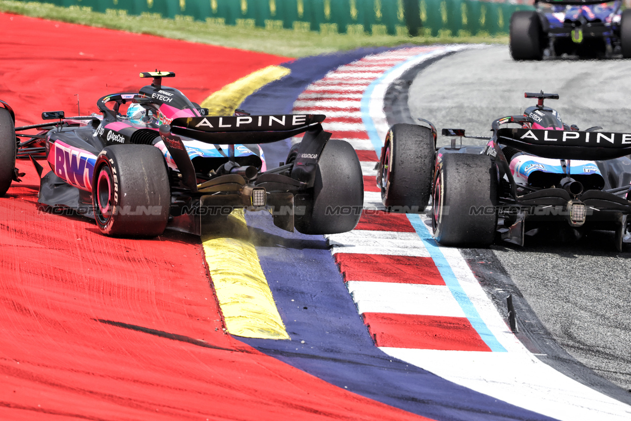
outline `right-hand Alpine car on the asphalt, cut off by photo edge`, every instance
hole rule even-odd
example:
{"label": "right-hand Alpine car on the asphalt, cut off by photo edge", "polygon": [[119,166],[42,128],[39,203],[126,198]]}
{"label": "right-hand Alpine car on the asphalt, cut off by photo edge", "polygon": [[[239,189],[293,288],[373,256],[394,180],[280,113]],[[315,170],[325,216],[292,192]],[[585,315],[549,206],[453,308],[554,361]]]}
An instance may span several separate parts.
{"label": "right-hand Alpine car on the asphalt, cut off by photo edge", "polygon": [[[439,149],[430,122],[392,126],[377,173],[384,205],[418,212],[431,198],[433,235],[445,246],[486,247],[497,237],[523,246],[540,230],[576,238],[598,229],[615,232],[621,251],[631,222],[631,133],[581,131],[543,105],[557,94],[526,98],[538,104],[493,121],[492,136],[443,129],[452,142]],[[459,146],[457,138],[487,145]]]}

